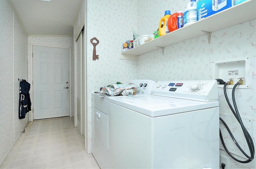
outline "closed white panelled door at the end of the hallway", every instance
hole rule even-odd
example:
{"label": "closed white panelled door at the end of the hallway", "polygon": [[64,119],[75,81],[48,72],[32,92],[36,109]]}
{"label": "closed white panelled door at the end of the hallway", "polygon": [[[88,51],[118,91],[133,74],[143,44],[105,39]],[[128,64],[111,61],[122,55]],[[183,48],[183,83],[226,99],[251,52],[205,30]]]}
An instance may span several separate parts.
{"label": "closed white panelled door at the end of the hallway", "polygon": [[70,116],[69,49],[33,46],[34,119]]}

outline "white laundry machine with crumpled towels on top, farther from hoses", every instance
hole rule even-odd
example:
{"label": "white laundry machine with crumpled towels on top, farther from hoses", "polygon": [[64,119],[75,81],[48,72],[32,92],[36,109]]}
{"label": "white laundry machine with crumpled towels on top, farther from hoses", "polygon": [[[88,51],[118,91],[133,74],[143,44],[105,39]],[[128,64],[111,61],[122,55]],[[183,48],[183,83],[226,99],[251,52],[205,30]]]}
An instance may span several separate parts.
{"label": "white laundry machine with crumpled towels on top, farther from hoses", "polygon": [[[151,94],[151,89],[156,85],[152,80],[132,80],[140,86],[135,96]],[[131,96],[131,97],[135,97]],[[92,154],[102,169],[109,165],[109,98],[128,96],[100,96],[92,93]]]}

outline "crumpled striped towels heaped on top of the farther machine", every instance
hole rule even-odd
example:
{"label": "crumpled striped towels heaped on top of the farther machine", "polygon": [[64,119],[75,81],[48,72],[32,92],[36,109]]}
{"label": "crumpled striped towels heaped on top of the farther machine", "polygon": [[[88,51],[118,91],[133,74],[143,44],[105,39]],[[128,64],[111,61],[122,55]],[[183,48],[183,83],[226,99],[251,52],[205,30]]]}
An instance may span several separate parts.
{"label": "crumpled striped towels heaped on top of the farther machine", "polygon": [[101,96],[118,96],[121,94],[122,96],[132,96],[134,93],[133,88],[139,88],[140,86],[135,85],[131,82],[127,84],[114,84],[109,87],[104,87],[99,92]]}

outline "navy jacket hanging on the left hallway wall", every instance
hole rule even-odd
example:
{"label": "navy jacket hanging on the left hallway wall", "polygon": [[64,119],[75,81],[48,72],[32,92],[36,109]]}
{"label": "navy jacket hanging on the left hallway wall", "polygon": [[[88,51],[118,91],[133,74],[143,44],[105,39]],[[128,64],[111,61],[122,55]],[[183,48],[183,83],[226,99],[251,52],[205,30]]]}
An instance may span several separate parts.
{"label": "navy jacket hanging on the left hallway wall", "polygon": [[26,113],[31,111],[29,90],[30,83],[23,79],[20,82],[19,119],[25,118]]}

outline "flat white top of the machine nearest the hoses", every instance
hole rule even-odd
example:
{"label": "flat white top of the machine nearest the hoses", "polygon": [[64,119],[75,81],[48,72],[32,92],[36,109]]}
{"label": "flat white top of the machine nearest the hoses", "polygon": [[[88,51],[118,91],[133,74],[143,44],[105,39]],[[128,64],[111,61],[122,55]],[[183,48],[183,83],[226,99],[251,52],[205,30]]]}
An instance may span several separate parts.
{"label": "flat white top of the machine nearest the hoses", "polygon": [[170,114],[190,112],[219,106],[218,101],[201,102],[155,95],[119,98],[110,97],[109,102],[150,117],[166,116]]}

